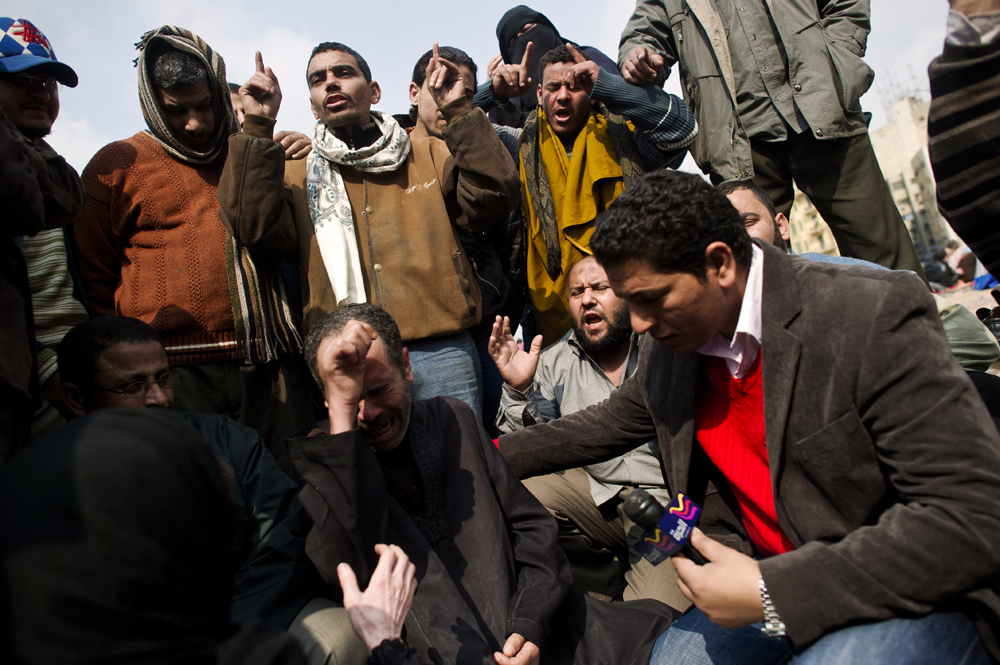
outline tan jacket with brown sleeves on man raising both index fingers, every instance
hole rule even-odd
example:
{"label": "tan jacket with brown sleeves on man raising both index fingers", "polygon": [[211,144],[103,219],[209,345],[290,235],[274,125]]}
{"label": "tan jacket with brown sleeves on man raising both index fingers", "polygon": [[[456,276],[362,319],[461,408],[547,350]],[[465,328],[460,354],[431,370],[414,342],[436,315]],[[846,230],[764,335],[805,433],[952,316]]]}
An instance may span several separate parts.
{"label": "tan jacket with brown sleeves on man raising both index fingers", "polygon": [[[485,230],[520,197],[510,154],[489,119],[462,99],[441,109],[444,141],[417,140],[389,173],[341,168],[354,213],[368,301],[399,324],[403,341],[450,335],[479,322],[481,296],[456,226]],[[273,121],[246,116],[229,139],[219,216],[251,249],[298,256],[303,328],[336,309],[305,193],[307,160],[284,161]],[[283,182],[282,182],[283,178]]]}

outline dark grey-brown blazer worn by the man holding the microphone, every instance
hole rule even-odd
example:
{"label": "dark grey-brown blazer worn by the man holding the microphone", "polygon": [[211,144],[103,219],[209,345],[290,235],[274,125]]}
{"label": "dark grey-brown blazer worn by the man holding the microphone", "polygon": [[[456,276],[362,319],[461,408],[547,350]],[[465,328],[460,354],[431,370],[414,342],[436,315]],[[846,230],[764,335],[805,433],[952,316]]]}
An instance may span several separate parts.
{"label": "dark grey-brown blazer worn by the man holding the microphone", "polygon": [[[1000,435],[912,276],[764,246],[764,418],[775,507],[796,549],[761,561],[789,637],[959,608],[996,651]],[[647,338],[611,397],[500,438],[519,477],[592,464],[656,436],[672,492],[750,551],[694,441],[703,356]],[[714,481],[714,482],[710,482]],[[718,490],[718,491],[716,491]]]}

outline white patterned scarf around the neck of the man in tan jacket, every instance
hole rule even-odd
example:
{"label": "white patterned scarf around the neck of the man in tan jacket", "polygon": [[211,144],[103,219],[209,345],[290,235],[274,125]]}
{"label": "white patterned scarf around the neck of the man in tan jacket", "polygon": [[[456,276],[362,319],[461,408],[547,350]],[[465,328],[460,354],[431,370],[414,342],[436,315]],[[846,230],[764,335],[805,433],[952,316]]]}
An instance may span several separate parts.
{"label": "white patterned scarf around the neck of the man in tan jacket", "polygon": [[367,301],[354,215],[338,167],[385,173],[398,169],[410,154],[410,137],[392,116],[373,112],[372,119],[382,137],[360,150],[350,149],[325,124],[317,122],[306,162],[309,214],[338,307]]}

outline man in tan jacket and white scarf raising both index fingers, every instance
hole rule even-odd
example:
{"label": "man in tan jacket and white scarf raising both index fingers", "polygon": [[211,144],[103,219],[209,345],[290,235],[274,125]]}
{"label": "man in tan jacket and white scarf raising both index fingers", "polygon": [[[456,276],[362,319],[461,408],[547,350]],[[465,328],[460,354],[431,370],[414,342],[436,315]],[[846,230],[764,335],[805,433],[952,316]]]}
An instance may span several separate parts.
{"label": "man in tan jacket and white scarf raising both index fingers", "polygon": [[373,112],[379,85],[343,44],[313,49],[306,76],[318,121],[313,153],[286,164],[271,140],[281,90],[258,56],[240,88],[246,116],[219,188],[223,221],[260,252],[297,244],[306,329],[339,307],[378,305],[410,349],[414,399],[450,395],[478,415],[467,329],[482,316],[481,296],[456,228],[506,218],[520,195],[513,160],[436,47],[427,80],[447,122],[443,140],[411,141],[391,116]]}

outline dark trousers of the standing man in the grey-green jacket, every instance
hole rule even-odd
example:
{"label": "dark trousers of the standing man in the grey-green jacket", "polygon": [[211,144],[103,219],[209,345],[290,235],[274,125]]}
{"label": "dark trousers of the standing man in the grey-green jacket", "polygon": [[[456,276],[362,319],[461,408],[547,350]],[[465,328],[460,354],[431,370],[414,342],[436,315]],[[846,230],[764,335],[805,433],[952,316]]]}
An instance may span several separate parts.
{"label": "dark trousers of the standing man in the grey-green jacket", "polygon": [[795,193],[809,197],[843,256],[912,270],[925,282],[913,241],[882,177],[868,134],[821,141],[811,133],[751,141],[753,181],[788,215]]}

